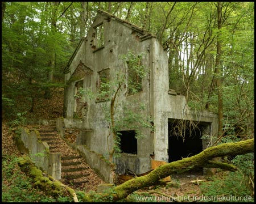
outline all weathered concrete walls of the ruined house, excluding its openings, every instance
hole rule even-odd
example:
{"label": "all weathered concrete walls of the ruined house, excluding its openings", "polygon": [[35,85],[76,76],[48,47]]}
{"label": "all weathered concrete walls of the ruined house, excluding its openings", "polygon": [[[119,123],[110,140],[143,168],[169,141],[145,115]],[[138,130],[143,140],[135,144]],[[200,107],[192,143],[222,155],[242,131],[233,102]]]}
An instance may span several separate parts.
{"label": "all weathered concrete walls of the ruined house, excluding its openings", "polygon": [[[91,131],[84,131],[79,135],[79,145],[86,145],[90,150],[108,158],[108,145],[106,144],[109,143],[112,148],[113,139],[110,137],[109,141],[107,140],[110,127],[102,109],[110,107],[110,101],[99,102],[87,98],[87,117],[81,120],[74,119],[75,82],[69,82],[69,78],[82,61],[93,71],[90,78],[91,83],[88,83],[84,76],[84,88],[96,92],[98,71],[109,68],[110,80],[114,80],[118,71],[126,69],[122,60],[119,59],[120,54],[127,54],[129,51],[134,51],[134,54],[144,53],[142,64],[148,71],[146,78],[142,81],[143,91],[135,95],[127,95],[127,88],[123,87],[118,100],[130,103],[141,101],[146,106],[142,114],[145,118],[151,117],[154,120],[155,131],[151,133],[148,129],[142,129],[146,137],[138,139],[137,155],[121,154],[121,158],[115,159],[115,163],[119,165],[118,173],[125,171],[123,168],[129,167],[135,173],[140,174],[150,170],[150,154],[155,154],[155,160],[168,162],[168,118],[209,122],[211,124],[210,134],[214,136],[217,130],[217,117],[208,112],[192,113],[186,105],[185,96],[171,95],[167,53],[163,50],[160,42],[154,37],[139,40],[141,31],[137,32],[137,28],[112,17],[98,14],[87,37],[81,41],[79,49],[76,50],[69,63],[69,72],[65,74],[65,82],[69,84],[69,87],[65,90],[67,111],[64,123],[66,128],[90,129]],[[105,32],[104,47],[93,49],[94,27],[102,22]],[[137,105],[131,105],[130,108],[134,112],[138,111]],[[119,110],[122,112],[122,107]],[[122,114],[120,118],[122,118]]]}

